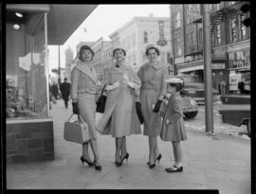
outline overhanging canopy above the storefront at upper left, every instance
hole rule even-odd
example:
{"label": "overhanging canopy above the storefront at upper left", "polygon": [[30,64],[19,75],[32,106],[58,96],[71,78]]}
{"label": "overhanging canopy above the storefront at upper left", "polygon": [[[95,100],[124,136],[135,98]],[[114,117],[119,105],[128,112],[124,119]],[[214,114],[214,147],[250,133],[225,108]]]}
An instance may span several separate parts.
{"label": "overhanging canopy above the storefront at upper left", "polygon": [[33,32],[42,18],[42,14],[36,13],[47,12],[48,44],[62,45],[97,6],[91,4],[8,4],[7,9],[24,10],[30,17],[33,16],[33,20],[30,20],[27,26],[28,33]]}

